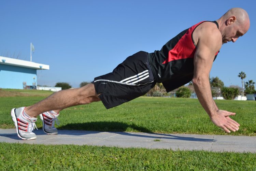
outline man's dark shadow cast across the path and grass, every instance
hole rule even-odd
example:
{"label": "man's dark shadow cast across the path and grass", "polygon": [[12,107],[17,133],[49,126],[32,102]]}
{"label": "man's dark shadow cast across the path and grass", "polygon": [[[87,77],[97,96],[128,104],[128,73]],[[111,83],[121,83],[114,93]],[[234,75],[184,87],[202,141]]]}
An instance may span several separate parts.
{"label": "man's dark shadow cast across the path and grass", "polygon": [[[134,134],[125,132],[127,128],[131,128],[136,132],[148,133],[148,134]],[[42,127],[39,129],[42,129]],[[214,139],[205,139],[205,138],[194,138],[194,137],[185,137],[185,136],[176,136],[170,134],[162,134],[162,133],[154,133],[151,130],[143,126],[138,126],[135,124],[127,124],[123,122],[107,122],[107,121],[99,121],[99,122],[84,122],[84,123],[69,123],[67,125],[62,125],[57,127],[58,134],[62,135],[86,135],[86,134],[96,134],[99,132],[114,132],[119,135],[125,136],[135,136],[135,137],[145,137],[145,138],[156,138],[156,139],[173,139],[173,140],[184,140],[184,141],[199,141],[199,142],[215,142]],[[75,130],[70,131],[70,130]],[[36,135],[45,135],[42,130],[34,130]],[[9,137],[11,139],[20,140],[17,134],[0,134],[0,137]],[[54,136],[54,135],[49,135]]]}

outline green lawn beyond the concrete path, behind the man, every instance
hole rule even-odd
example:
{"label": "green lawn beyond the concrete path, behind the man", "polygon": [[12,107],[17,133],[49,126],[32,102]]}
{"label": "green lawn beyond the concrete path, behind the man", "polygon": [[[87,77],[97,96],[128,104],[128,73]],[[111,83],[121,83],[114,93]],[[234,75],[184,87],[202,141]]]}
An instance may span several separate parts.
{"label": "green lawn beyond the concrete path, behind the man", "polygon": [[[43,97],[0,97],[0,128],[14,128],[12,108],[28,106]],[[141,97],[106,110],[101,102],[60,112],[58,129],[217,135],[256,135],[256,101],[217,100],[220,109],[236,112],[240,130],[227,134],[215,126],[197,99]],[[41,127],[40,119],[37,126]]]}

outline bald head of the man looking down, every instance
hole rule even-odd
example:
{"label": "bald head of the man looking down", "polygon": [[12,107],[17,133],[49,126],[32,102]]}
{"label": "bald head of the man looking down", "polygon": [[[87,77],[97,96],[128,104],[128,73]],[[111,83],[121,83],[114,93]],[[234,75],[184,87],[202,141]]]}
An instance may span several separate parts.
{"label": "bald head of the man looking down", "polygon": [[235,42],[250,28],[249,16],[242,8],[231,8],[217,22],[223,43],[228,41]]}

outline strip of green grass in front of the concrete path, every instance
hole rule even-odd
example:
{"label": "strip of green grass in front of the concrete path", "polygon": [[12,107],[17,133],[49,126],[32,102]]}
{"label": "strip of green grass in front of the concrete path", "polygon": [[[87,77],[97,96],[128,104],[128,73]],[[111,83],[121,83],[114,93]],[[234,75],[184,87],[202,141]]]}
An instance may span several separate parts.
{"label": "strip of green grass in front of the concrete path", "polygon": [[256,154],[0,143],[0,170],[250,170]]}

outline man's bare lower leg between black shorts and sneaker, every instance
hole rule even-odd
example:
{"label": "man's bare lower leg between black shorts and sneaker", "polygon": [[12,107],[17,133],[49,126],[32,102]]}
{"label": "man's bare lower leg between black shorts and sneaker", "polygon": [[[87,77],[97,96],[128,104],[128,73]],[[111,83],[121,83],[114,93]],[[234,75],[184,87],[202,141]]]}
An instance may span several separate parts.
{"label": "man's bare lower leg between black shorts and sneaker", "polygon": [[100,98],[96,94],[94,85],[90,83],[81,88],[58,91],[32,106],[26,107],[25,112],[30,117],[37,117],[49,110],[59,112],[67,107],[96,101],[100,101]]}

